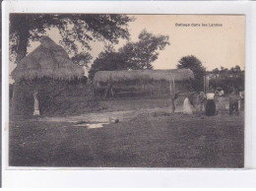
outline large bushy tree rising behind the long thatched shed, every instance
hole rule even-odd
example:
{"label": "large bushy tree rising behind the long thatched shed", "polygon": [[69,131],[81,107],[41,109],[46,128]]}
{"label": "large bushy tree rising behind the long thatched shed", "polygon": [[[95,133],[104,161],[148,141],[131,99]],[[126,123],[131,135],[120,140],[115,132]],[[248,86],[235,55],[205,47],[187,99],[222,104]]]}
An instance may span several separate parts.
{"label": "large bushy tree rising behind the long thatched shed", "polygon": [[159,57],[159,51],[168,45],[167,35],[154,35],[144,30],[139,41],[127,42],[118,51],[110,49],[99,54],[92,65],[90,79],[100,70],[141,70],[153,69],[152,63]]}

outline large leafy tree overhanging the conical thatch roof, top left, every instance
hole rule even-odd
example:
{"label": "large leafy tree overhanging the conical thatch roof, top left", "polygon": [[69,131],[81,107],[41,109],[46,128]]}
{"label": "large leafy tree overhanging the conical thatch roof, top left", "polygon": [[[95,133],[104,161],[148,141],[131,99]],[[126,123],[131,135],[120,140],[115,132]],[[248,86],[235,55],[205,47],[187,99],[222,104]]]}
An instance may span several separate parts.
{"label": "large leafy tree overhanging the conical thatch roof, top left", "polygon": [[[69,54],[82,53],[88,59],[85,51],[91,49],[90,41],[117,43],[119,37],[128,39],[127,24],[132,21],[133,18],[117,14],[10,14],[10,55],[19,63],[31,40],[38,40],[46,30],[56,28]],[[74,59],[78,58],[82,57]]]}

